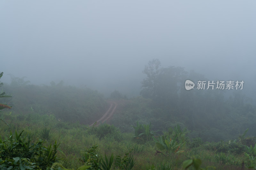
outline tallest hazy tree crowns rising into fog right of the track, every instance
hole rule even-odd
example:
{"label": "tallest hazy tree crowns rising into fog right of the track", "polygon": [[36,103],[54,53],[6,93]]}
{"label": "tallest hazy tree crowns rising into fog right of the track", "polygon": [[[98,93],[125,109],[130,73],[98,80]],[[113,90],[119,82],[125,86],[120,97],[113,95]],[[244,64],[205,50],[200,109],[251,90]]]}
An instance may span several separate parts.
{"label": "tallest hazy tree crowns rising into fog right of the track", "polygon": [[141,84],[143,89],[140,94],[151,98],[158,107],[177,106],[179,90],[187,77],[187,72],[182,67],[170,66],[160,68],[158,59],[148,62],[143,73],[147,75]]}

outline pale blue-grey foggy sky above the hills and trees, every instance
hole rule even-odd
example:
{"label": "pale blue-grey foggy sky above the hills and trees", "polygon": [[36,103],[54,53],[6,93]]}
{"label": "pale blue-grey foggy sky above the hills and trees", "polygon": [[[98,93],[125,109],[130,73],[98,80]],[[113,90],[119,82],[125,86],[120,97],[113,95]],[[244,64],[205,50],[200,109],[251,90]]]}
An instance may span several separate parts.
{"label": "pale blue-grey foggy sky above the hills and trees", "polygon": [[[256,83],[255,1],[0,1],[2,82],[139,95],[149,60]],[[247,85],[247,86],[246,86]]]}

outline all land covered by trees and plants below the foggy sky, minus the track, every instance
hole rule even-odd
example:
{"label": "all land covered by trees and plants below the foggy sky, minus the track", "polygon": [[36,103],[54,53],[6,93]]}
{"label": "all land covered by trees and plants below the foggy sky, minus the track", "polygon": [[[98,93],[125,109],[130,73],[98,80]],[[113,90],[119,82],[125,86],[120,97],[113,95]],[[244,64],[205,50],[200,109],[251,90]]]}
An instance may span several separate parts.
{"label": "all land covered by trees and plants below the foggy sky, minus the track", "polygon": [[188,91],[185,80],[208,79],[158,59],[142,72],[131,98],[11,75],[0,84],[0,169],[256,169],[256,107],[243,90]]}

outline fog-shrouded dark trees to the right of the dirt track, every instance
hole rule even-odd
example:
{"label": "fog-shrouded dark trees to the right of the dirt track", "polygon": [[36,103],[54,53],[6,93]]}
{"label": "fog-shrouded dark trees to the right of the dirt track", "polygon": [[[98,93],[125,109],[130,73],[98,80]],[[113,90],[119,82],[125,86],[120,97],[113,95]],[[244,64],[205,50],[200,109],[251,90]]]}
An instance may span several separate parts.
{"label": "fog-shrouded dark trees to the right of the dirt track", "polygon": [[248,135],[256,136],[256,107],[243,90],[206,90],[207,86],[205,90],[197,90],[195,85],[188,91],[187,79],[195,84],[208,79],[194,71],[188,73],[182,67],[161,68],[158,59],[149,61],[143,73],[147,75],[141,82],[143,98],[131,99],[114,117],[113,123],[121,129],[132,130],[126,124],[139,120],[152,122],[155,130],[181,124],[192,131],[191,137],[201,137],[204,141],[230,139],[247,128]]}

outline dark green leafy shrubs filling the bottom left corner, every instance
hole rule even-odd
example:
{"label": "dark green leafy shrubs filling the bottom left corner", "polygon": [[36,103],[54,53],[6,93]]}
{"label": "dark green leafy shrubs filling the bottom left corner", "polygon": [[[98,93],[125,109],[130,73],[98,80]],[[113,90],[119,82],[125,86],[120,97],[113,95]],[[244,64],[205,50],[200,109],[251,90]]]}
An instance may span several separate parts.
{"label": "dark green leafy shrubs filling the bottom left corner", "polygon": [[[5,169],[9,166],[18,166],[20,169],[33,169],[35,167],[46,168],[57,162],[57,150],[64,154],[58,146],[57,141],[44,146],[44,141],[39,139],[36,143],[31,143],[30,136],[22,135],[23,131],[18,135],[10,132],[10,137],[2,141],[0,139],[0,166]],[[19,162],[19,163],[18,163]],[[29,166],[30,168],[28,168]],[[5,167],[5,168],[4,168]]]}

